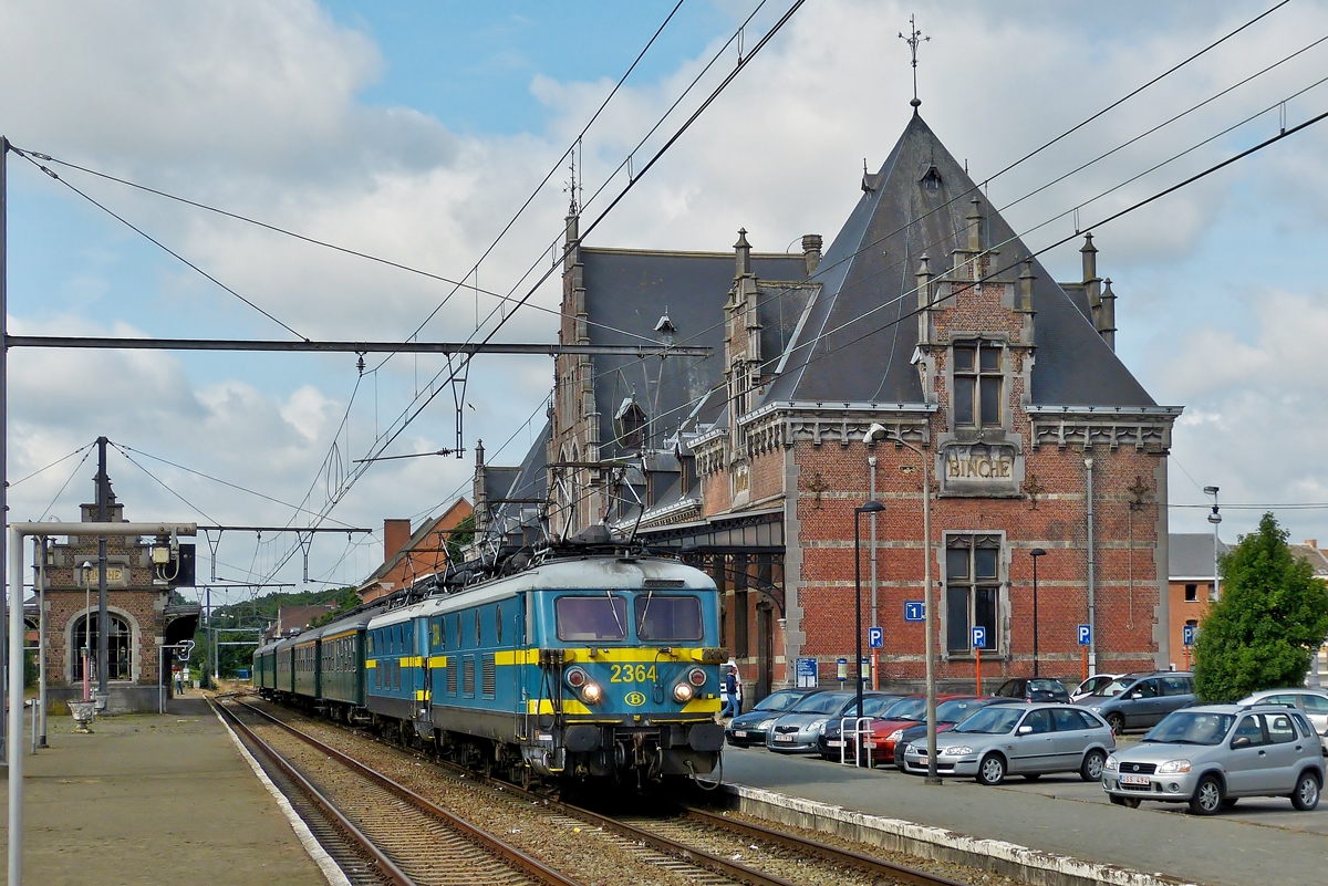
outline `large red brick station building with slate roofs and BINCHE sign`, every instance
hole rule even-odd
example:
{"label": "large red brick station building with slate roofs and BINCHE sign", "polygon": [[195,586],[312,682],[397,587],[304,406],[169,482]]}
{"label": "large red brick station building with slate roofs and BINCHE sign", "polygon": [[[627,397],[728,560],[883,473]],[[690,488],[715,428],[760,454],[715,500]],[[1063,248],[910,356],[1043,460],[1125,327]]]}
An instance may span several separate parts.
{"label": "large red brick station building with slate roofs and BINCHE sign", "polygon": [[[946,690],[973,686],[975,626],[992,688],[1032,675],[1035,641],[1040,672],[1068,683],[1089,650],[1094,670],[1167,667],[1181,407],[1116,355],[1092,236],[1082,279],[1056,283],[915,110],[821,247],[807,235],[801,253],[760,253],[740,231],[730,252],[598,248],[574,206],[560,342],[712,355],[559,357],[523,463],[479,451],[479,536],[608,523],[680,552],[724,593],[749,703],[807,683],[809,659],[821,686],[851,662],[854,508],[871,499],[884,511],[861,517],[862,647],[879,625],[880,684],[923,680],[924,557]],[[872,424],[886,439],[865,442]],[[928,462],[930,538],[911,447]]]}

